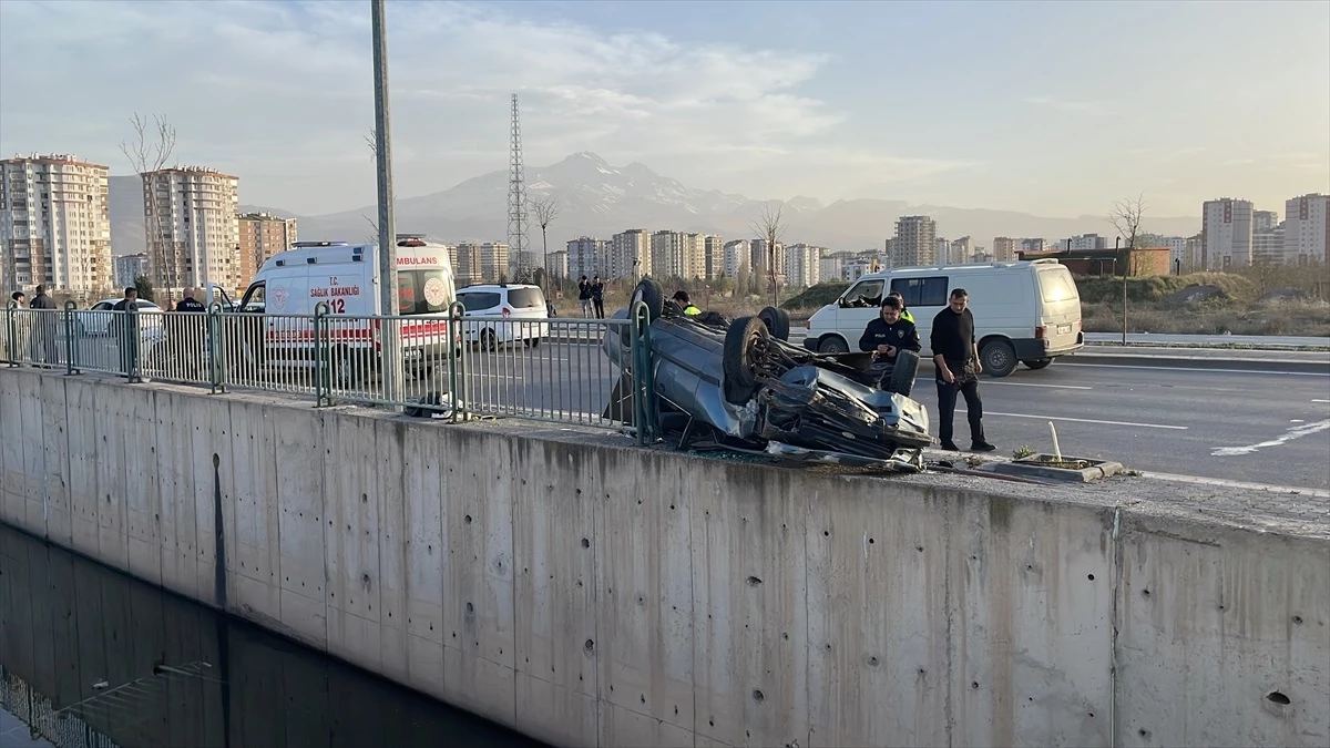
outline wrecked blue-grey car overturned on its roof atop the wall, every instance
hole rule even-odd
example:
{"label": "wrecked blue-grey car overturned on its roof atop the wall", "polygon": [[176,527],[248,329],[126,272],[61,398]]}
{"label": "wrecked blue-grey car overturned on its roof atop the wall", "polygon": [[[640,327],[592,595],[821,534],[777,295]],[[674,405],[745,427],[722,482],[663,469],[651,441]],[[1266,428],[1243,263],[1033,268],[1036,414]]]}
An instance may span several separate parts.
{"label": "wrecked blue-grey car overturned on its roof atop the wall", "polygon": [[[922,468],[920,450],[932,443],[928,413],[907,397],[918,354],[902,351],[884,366],[872,353],[813,353],[787,342],[783,311],[767,307],[733,322],[689,317],[652,280],[637,285],[629,309],[638,302],[650,319],[658,426],[678,433],[682,446],[710,441],[801,462]],[[626,331],[606,333],[604,346],[626,382]],[[614,395],[620,409],[622,391]]]}

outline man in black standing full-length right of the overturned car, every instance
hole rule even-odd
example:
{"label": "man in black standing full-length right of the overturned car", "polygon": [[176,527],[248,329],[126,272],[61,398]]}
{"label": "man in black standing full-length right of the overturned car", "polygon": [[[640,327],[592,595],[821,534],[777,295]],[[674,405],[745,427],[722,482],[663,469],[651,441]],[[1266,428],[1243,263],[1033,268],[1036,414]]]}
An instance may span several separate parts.
{"label": "man in black standing full-length right of the overturned car", "polygon": [[956,414],[956,394],[966,398],[966,417],[970,421],[971,450],[991,453],[998,447],[984,439],[984,403],[979,399],[979,375],[984,373],[979,362],[975,341],[975,315],[967,309],[970,294],[954,289],[943,309],[932,318],[932,362],[938,374],[938,439],[942,449],[960,451],[952,441],[951,421]]}

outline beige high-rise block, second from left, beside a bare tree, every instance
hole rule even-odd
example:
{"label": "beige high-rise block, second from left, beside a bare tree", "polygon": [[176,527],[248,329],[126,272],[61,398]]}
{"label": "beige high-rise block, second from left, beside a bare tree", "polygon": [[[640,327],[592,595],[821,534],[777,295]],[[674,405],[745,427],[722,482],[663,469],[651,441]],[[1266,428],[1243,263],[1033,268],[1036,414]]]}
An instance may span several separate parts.
{"label": "beige high-rise block, second from left, beside a bare tree", "polygon": [[144,174],[148,274],[174,295],[185,287],[239,286],[239,177],[206,166]]}

